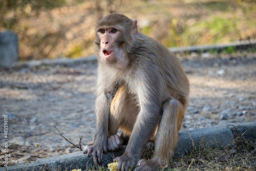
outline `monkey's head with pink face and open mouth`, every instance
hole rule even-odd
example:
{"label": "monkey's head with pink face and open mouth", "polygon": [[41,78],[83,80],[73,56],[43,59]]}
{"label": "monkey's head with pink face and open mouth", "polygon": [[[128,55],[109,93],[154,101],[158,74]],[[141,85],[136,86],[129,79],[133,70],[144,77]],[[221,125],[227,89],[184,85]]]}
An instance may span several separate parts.
{"label": "monkey's head with pink face and open mouth", "polygon": [[95,27],[95,44],[98,60],[103,63],[125,68],[138,34],[137,20],[122,14],[110,14],[102,18]]}

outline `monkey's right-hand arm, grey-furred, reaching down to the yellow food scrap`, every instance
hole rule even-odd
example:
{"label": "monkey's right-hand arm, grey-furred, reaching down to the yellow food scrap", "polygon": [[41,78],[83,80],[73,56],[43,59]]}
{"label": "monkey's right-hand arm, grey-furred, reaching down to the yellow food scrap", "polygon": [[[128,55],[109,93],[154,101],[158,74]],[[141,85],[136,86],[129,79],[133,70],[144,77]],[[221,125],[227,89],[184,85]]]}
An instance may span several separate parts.
{"label": "monkey's right-hand arm, grey-furred, reaching down to the yellow food scrap", "polygon": [[[150,66],[148,66],[150,68]],[[154,75],[154,77],[150,76]],[[140,112],[132,131],[125,153],[114,159],[119,161],[118,169],[134,168],[140,159],[145,143],[150,139],[161,118],[161,92],[163,85],[157,71],[137,75],[137,95]]]}

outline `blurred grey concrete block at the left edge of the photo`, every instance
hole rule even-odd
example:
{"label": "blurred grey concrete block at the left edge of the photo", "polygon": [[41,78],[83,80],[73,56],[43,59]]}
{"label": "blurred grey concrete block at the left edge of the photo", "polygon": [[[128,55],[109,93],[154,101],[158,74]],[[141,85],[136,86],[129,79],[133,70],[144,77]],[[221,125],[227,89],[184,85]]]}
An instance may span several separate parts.
{"label": "blurred grey concrete block at the left edge of the photo", "polygon": [[18,36],[10,31],[0,32],[0,66],[10,67],[18,61]]}

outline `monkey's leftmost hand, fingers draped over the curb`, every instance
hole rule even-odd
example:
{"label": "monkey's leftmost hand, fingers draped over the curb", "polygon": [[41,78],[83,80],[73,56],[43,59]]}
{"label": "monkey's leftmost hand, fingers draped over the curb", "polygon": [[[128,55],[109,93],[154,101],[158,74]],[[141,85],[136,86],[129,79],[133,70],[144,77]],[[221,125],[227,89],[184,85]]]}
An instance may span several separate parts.
{"label": "monkey's leftmost hand, fingers draped over the curb", "polygon": [[[98,138],[100,139],[100,138]],[[108,152],[108,148],[106,146],[107,141],[106,138],[102,138],[103,140],[95,140],[92,146],[89,146],[86,148],[86,150],[83,152],[83,154],[87,154],[88,157],[93,156],[93,161],[95,163],[101,164],[101,153],[103,150],[103,153]]]}

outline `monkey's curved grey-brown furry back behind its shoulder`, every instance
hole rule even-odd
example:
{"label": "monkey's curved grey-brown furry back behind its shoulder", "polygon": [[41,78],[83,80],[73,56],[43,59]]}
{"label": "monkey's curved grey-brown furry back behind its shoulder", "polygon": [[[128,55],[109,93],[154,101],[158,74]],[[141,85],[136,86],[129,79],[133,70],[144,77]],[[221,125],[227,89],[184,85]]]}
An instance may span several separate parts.
{"label": "monkey's curved grey-brown furry back behind its shoulder", "polygon": [[[143,58],[145,68],[158,70],[157,76],[162,77],[171,96],[179,96],[184,104],[187,103],[189,94],[189,81],[182,69],[179,60],[159,41],[142,33],[138,34],[139,45],[136,49],[136,56]],[[153,65],[152,65],[153,64]],[[157,67],[153,67],[157,66]]]}

